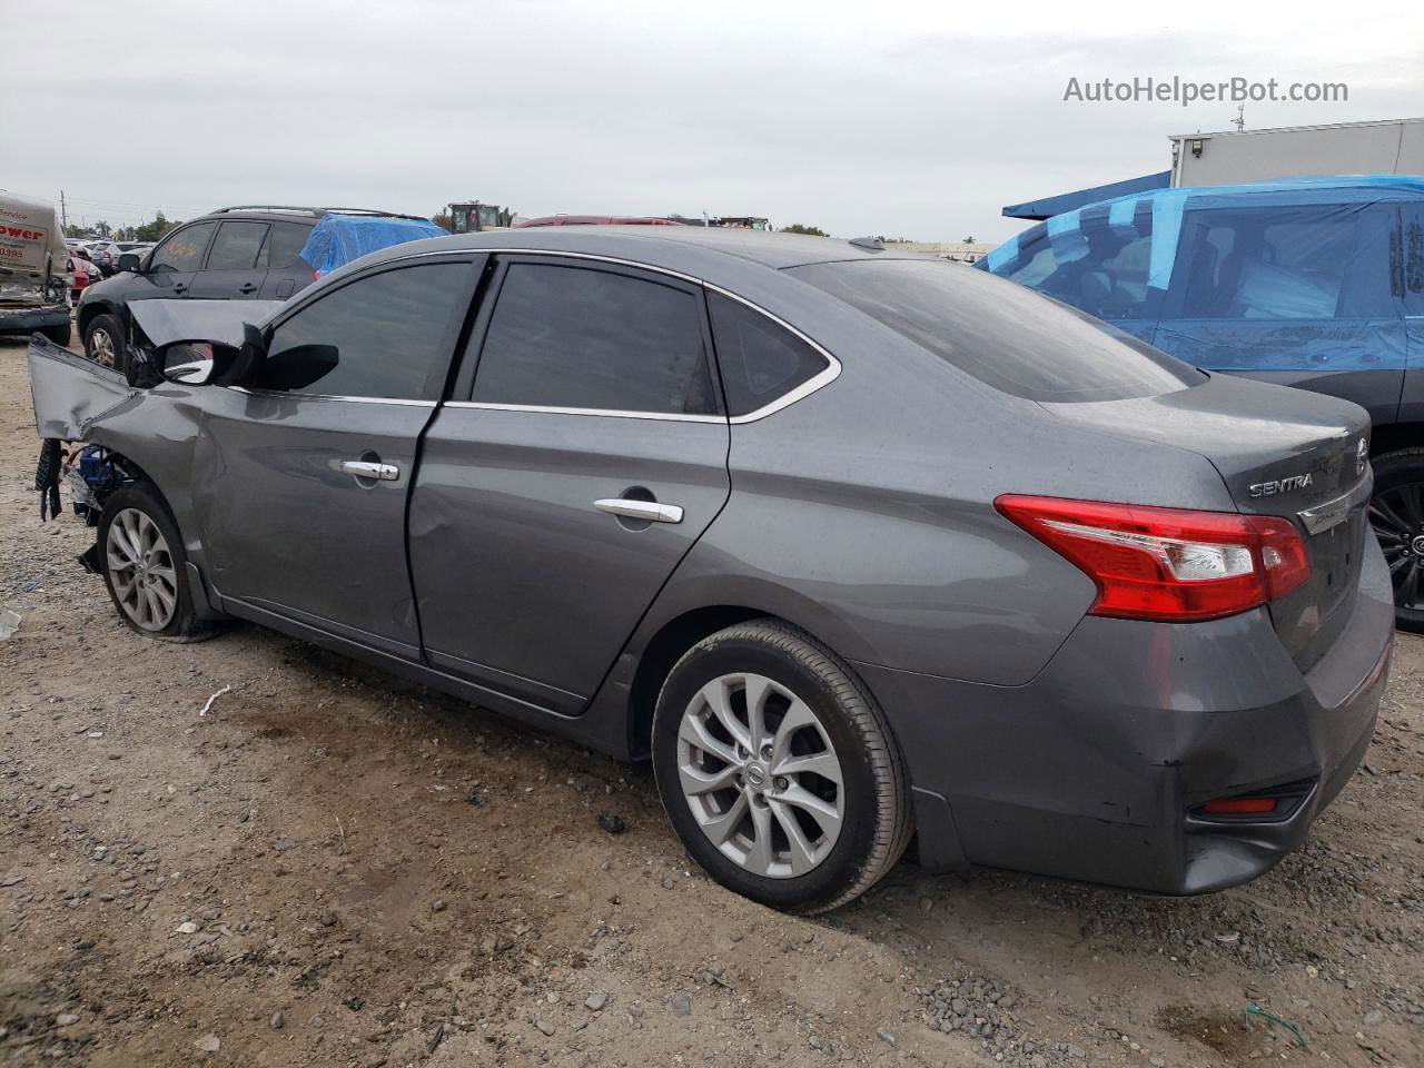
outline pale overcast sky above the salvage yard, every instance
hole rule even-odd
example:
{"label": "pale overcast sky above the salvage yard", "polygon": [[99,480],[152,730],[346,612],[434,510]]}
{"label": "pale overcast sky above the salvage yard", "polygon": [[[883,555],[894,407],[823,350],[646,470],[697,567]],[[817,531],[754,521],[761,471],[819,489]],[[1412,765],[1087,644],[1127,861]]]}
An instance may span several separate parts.
{"label": "pale overcast sky above the salvage yard", "polygon": [[1247,104],[1249,128],[1420,115],[1420,11],[0,0],[0,188],[63,188],[71,221],[111,224],[483,199],[997,241],[1021,228],[1004,204],[1166,169],[1168,134],[1236,112],[1065,103],[1069,77],[1349,84],[1349,103]]}

